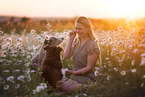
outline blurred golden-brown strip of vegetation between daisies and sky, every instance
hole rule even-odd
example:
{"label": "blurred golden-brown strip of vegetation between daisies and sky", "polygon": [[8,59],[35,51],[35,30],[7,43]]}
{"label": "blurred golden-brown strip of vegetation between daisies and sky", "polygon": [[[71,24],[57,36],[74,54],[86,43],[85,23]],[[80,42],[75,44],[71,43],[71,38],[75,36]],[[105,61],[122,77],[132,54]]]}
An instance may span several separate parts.
{"label": "blurred golden-brown strip of vegetation between daisies and sky", "polygon": [[[42,31],[58,31],[62,32],[65,29],[74,29],[74,22],[77,18],[55,18],[53,20],[34,20],[28,17],[22,17],[20,20],[16,21],[17,17],[11,17],[8,21],[0,22],[0,30],[5,33],[15,33],[21,34],[24,30],[26,33],[30,33],[31,30],[35,30],[36,33]],[[129,19],[129,18],[109,18],[109,19],[95,19],[89,18],[93,24],[94,30],[117,30],[119,26],[122,26],[124,30],[129,30],[130,28],[145,27],[145,18]]]}

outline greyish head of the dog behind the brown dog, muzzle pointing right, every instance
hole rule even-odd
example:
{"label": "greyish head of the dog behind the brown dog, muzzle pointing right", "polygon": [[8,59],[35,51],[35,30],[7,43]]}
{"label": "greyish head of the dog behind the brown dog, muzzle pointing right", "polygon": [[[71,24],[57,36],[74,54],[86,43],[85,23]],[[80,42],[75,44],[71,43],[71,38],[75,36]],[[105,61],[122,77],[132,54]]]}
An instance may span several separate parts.
{"label": "greyish head of the dog behind the brown dog, muzzle pointing right", "polygon": [[51,37],[49,40],[45,39],[44,44],[48,44],[49,46],[57,46],[60,43],[63,42],[64,38],[55,38],[55,37]]}

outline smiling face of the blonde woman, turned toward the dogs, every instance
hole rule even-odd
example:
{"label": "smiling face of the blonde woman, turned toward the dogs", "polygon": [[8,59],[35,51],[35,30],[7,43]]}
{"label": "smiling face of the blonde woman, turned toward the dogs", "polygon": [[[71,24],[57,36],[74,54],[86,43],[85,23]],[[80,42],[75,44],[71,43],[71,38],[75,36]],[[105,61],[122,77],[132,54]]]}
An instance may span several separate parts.
{"label": "smiling face of the blonde woman, turned toward the dogs", "polygon": [[76,23],[75,31],[78,34],[79,38],[88,37],[88,32],[87,32],[86,28],[81,23]]}

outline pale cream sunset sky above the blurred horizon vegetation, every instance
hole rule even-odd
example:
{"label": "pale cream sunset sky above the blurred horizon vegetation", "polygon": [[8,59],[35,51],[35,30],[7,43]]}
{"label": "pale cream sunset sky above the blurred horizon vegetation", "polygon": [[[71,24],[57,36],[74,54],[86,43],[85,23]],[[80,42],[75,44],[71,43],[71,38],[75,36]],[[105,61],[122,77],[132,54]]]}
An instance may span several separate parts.
{"label": "pale cream sunset sky above the blurred horizon vegetation", "polygon": [[145,17],[145,0],[0,0],[0,15],[93,18]]}

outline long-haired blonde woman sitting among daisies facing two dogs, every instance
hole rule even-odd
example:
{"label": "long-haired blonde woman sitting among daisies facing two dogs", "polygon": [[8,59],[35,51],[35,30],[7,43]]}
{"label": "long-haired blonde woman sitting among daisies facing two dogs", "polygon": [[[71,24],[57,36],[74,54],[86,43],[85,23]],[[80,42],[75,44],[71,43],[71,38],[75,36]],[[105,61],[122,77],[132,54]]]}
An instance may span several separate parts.
{"label": "long-haired blonde woman sitting among daisies facing two dogs", "polygon": [[[78,41],[73,44],[76,35]],[[93,69],[100,54],[95,40],[90,20],[84,16],[78,17],[75,29],[69,33],[69,41],[63,55],[65,59],[73,57],[73,68],[66,71],[71,77],[66,82],[58,82],[57,89],[74,91],[80,85],[86,87],[95,81]]]}

